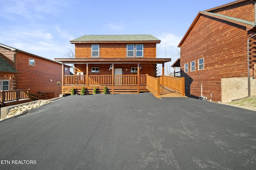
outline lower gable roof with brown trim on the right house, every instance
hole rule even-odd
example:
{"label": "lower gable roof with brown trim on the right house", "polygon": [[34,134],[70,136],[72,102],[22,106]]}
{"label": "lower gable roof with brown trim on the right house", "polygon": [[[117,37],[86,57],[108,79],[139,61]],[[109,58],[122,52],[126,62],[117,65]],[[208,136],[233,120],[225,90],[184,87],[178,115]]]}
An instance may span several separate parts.
{"label": "lower gable roof with brown trim on the right house", "polygon": [[[244,0],[240,0],[240,2],[242,2],[242,1],[244,1]],[[198,19],[202,15],[210,16],[210,17],[213,17],[213,18],[218,18],[220,20],[229,21],[231,23],[236,23],[238,25],[242,25],[242,26],[246,27],[246,31],[256,27],[256,23],[251,22],[251,21],[246,21],[246,20],[242,20],[240,18],[234,18],[234,17],[230,17],[230,16],[225,16],[225,15],[222,15],[222,14],[212,13],[212,12],[200,11],[197,14],[196,18],[194,19],[194,21],[192,22],[192,24],[190,25],[190,27],[188,28],[188,31],[186,32],[186,34],[184,35],[184,37],[180,41],[178,47],[181,47],[181,45],[184,43],[186,37],[188,37],[190,31],[193,29],[194,25],[196,25],[196,22],[198,21]]]}

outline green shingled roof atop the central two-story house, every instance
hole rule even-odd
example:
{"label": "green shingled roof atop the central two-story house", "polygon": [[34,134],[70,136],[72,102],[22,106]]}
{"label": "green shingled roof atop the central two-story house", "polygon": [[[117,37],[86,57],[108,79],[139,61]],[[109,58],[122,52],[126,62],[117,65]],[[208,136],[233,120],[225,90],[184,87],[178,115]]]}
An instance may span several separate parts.
{"label": "green shingled roof atop the central two-story house", "polygon": [[152,35],[84,35],[71,41],[160,41]]}

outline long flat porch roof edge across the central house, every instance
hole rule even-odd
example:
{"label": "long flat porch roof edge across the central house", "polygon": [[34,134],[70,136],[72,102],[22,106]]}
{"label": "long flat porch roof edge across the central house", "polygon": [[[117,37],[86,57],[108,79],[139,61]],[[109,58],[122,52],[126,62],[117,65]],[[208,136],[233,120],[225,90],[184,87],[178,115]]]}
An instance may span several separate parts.
{"label": "long flat porch roof edge across the central house", "polygon": [[80,59],[54,59],[54,61],[61,62],[63,64],[164,64],[172,59],[155,59],[155,58],[121,58],[121,59],[92,59],[92,58],[80,58]]}

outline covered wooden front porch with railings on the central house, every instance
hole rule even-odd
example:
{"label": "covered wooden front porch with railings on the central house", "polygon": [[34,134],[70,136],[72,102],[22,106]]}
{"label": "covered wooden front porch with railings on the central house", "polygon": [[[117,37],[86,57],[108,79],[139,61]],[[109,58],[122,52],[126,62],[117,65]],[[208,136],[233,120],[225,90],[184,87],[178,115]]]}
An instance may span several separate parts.
{"label": "covered wooden front porch with railings on the central house", "polygon": [[[127,94],[148,92],[147,89],[147,71],[153,69],[154,73],[150,76],[156,77],[156,64],[162,64],[162,74],[164,74],[164,63],[171,59],[55,59],[62,62],[62,93],[70,94],[74,88],[77,94],[80,94],[82,86],[86,88],[87,94],[92,94],[96,86],[97,93],[102,93],[104,86],[107,87],[109,94]],[[84,67],[84,71],[79,72],[82,75],[64,75],[64,64],[76,64]],[[93,66],[99,66],[100,72],[91,71]],[[136,72],[131,70],[136,67]],[[118,72],[117,69],[121,71]],[[107,73],[107,74],[106,74]]]}

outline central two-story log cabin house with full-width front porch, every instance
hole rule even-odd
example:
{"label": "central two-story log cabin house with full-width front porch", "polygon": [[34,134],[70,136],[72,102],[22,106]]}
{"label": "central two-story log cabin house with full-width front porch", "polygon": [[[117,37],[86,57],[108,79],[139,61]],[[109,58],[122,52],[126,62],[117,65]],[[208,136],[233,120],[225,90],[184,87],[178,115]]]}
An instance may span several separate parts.
{"label": "central two-story log cabin house with full-width front porch", "polygon": [[171,61],[156,58],[160,40],[152,35],[84,35],[70,43],[75,45],[75,58],[55,59],[74,64],[74,76],[62,73],[63,94],[72,88],[79,94],[82,86],[87,94],[95,86],[98,93],[104,86],[109,94],[148,92],[146,75],[156,77],[156,64],[162,64],[164,73],[164,63]]}

